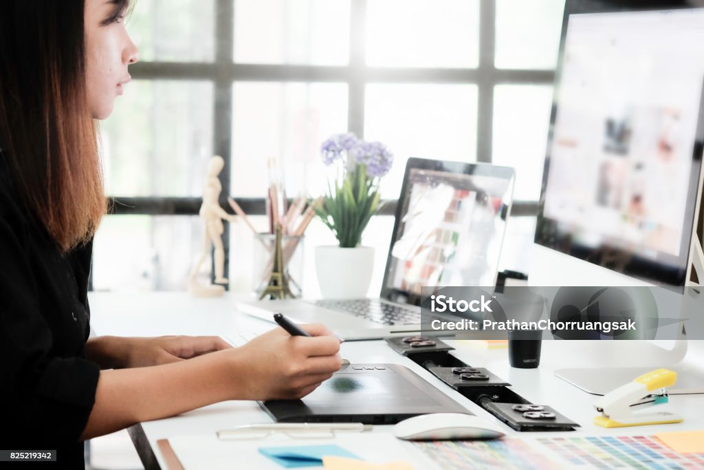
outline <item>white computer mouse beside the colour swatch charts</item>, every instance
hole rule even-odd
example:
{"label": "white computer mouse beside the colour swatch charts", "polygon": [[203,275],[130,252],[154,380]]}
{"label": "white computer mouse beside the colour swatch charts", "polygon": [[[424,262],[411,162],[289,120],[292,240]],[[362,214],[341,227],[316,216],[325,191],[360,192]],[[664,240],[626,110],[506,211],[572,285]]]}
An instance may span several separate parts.
{"label": "white computer mouse beside the colour swatch charts", "polygon": [[433,413],[404,419],[394,426],[394,435],[406,440],[455,440],[496,439],[505,433],[471,414]]}

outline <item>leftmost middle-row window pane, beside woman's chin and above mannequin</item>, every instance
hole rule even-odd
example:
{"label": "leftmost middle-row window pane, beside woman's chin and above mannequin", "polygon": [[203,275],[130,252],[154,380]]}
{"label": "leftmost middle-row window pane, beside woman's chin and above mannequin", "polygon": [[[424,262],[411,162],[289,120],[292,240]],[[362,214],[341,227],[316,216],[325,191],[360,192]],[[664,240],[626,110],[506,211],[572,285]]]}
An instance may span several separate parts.
{"label": "leftmost middle-row window pane, beside woman's chin and above mannequin", "polygon": [[213,83],[134,80],[101,135],[108,194],[201,196],[213,155]]}

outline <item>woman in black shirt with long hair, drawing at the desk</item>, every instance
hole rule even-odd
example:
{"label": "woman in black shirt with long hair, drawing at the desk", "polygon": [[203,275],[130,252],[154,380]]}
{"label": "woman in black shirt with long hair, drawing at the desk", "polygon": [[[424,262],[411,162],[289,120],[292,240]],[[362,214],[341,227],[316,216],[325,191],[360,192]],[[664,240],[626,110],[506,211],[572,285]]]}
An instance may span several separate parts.
{"label": "woman in black shirt with long hair, drawing at the desk", "polygon": [[111,113],[138,58],[127,3],[0,2],[0,449],[57,450],[62,468],[84,467],[82,440],[222,400],[303,397],[340,366],[322,326],[239,348],[87,339],[92,237],[106,212],[94,119]]}

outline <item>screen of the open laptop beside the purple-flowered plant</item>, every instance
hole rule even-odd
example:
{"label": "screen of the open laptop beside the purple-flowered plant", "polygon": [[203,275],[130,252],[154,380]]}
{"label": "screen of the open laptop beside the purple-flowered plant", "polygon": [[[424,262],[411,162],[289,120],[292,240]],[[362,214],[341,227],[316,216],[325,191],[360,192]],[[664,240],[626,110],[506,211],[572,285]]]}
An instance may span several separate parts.
{"label": "screen of the open laptop beside the purple-flowered plant", "polygon": [[494,285],[513,179],[507,167],[410,159],[382,297],[417,305],[421,287]]}

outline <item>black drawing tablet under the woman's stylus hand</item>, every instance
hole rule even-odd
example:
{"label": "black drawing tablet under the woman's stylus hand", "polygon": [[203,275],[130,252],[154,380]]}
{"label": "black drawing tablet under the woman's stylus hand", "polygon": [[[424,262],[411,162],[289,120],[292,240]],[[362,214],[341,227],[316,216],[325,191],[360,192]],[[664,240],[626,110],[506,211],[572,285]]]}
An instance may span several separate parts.
{"label": "black drawing tablet under the woman's stylus hand", "polygon": [[394,424],[429,413],[472,414],[398,364],[349,364],[303,400],[259,402],[282,423]]}

